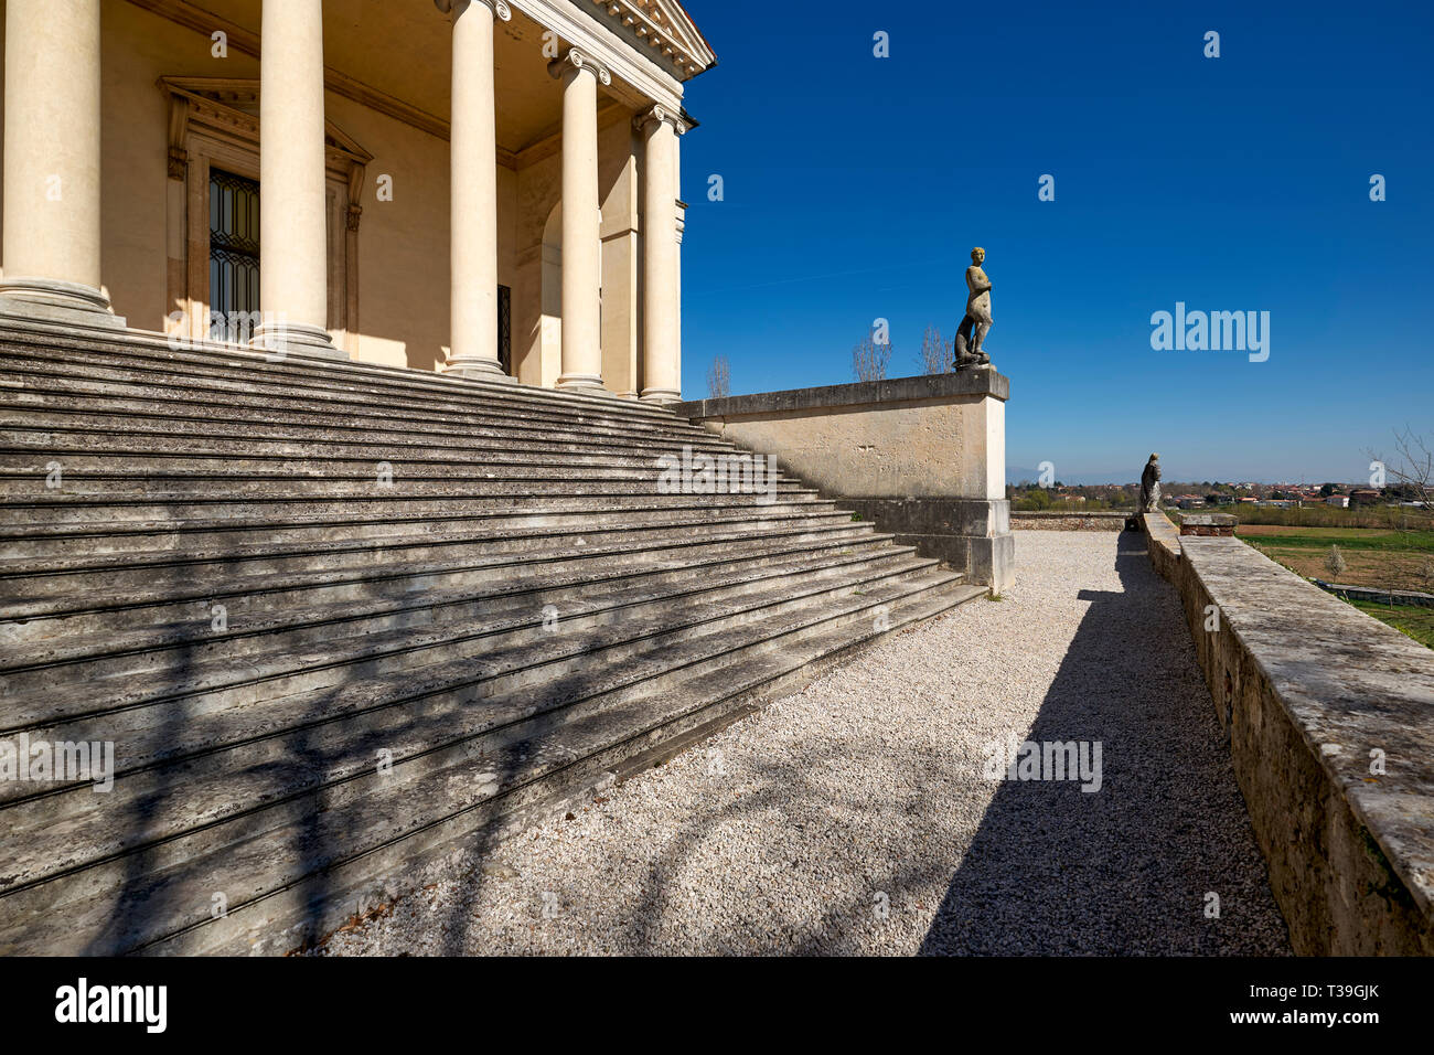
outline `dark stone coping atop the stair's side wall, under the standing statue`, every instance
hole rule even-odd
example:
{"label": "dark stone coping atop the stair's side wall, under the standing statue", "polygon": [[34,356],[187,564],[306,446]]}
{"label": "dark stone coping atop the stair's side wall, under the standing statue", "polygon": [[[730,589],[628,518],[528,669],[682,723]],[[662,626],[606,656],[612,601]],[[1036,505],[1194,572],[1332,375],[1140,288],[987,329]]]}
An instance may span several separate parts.
{"label": "dark stone coping atop the stair's side wall, under the standing statue", "polygon": [[667,408],[678,418],[700,421],[703,418],[784,413],[836,406],[913,403],[955,396],[992,396],[1005,400],[1011,396],[1011,380],[994,369],[972,369],[956,373],[932,373],[919,378],[895,378],[891,380],[863,380],[852,385],[823,385],[809,389],[757,392],[754,395],[726,396],[723,399],[694,399],[684,403],[668,403]]}

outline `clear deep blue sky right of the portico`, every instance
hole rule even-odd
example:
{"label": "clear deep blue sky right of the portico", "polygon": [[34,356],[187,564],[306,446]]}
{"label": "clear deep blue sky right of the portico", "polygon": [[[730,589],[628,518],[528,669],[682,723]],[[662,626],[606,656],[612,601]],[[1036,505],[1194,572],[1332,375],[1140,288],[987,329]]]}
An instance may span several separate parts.
{"label": "clear deep blue sky right of the portico", "polygon": [[[687,6],[690,398],[716,355],[734,393],[852,380],[878,317],[919,373],[982,245],[1012,466],[1322,482],[1434,438],[1434,4]],[[1269,360],[1153,350],[1176,301],[1269,311]]]}

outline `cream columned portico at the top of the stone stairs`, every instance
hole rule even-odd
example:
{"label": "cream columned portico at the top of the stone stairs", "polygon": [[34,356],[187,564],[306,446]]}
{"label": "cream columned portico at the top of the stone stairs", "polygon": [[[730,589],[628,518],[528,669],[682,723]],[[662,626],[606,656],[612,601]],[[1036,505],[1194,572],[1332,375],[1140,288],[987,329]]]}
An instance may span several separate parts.
{"label": "cream columned portico at the top of the stone stairs", "polygon": [[681,398],[675,0],[6,0],[4,55],[0,320]]}

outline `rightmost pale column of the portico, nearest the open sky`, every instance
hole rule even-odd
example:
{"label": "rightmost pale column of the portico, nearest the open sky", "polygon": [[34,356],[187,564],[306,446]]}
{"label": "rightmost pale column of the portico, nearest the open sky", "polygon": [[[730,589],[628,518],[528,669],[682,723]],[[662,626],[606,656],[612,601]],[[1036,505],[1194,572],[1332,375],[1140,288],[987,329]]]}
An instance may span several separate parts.
{"label": "rightmost pale column of the portico, nearest the open sky", "polygon": [[642,131],[642,399],[683,398],[678,304],[677,136],[683,119],[665,106],[640,113]]}

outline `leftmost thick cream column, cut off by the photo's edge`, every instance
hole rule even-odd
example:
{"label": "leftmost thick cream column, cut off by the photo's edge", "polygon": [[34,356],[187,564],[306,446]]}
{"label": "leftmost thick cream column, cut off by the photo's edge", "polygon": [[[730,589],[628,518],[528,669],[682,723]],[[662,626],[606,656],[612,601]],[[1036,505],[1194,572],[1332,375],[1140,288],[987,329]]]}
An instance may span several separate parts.
{"label": "leftmost thick cream column, cut off by the photo's edge", "polygon": [[100,290],[99,4],[6,4],[3,314],[125,324]]}

